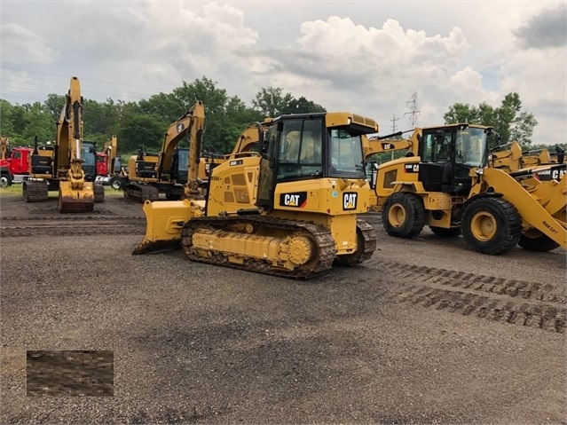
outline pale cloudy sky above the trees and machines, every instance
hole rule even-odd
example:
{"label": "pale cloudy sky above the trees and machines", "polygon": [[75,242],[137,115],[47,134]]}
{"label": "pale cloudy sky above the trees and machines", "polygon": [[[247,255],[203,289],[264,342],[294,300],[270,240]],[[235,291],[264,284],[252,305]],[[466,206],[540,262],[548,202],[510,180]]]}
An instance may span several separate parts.
{"label": "pale cloudy sky above the trees and machines", "polygon": [[282,87],[389,133],[394,118],[409,128],[413,92],[418,124],[435,125],[456,102],[500,106],[516,91],[540,122],[534,140],[564,143],[565,51],[523,50],[516,38],[542,30],[558,4],[53,1],[30,13],[6,0],[0,97],[43,101],[77,75],[86,98],[130,101],[206,76],[248,105]]}

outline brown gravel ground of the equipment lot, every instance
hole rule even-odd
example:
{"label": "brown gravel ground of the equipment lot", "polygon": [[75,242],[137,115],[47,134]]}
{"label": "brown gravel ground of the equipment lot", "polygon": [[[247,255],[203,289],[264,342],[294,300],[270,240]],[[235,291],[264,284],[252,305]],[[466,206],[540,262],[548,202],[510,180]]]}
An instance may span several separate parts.
{"label": "brown gravel ground of the equipment lot", "polygon": [[[53,200],[0,198],[3,218],[38,211],[57,215]],[[143,216],[108,196],[94,214]],[[180,251],[131,256],[143,226],[2,238],[0,422],[567,423],[565,251],[482,256],[430,232],[393,239],[373,220],[370,261],[307,281]],[[478,303],[553,305],[563,328],[415,297],[466,279],[530,287]],[[113,351],[114,397],[28,397],[27,350]]]}

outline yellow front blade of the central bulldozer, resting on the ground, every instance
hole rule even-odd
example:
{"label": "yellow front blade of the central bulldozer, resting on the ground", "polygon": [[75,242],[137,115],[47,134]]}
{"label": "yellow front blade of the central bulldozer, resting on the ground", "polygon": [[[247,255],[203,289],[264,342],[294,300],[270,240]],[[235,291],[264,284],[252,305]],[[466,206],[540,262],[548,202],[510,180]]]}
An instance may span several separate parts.
{"label": "yellow front blade of the central bulldozer, resting on the ground", "polygon": [[181,248],[181,230],[191,219],[190,201],[146,201],[146,235],[132,255]]}

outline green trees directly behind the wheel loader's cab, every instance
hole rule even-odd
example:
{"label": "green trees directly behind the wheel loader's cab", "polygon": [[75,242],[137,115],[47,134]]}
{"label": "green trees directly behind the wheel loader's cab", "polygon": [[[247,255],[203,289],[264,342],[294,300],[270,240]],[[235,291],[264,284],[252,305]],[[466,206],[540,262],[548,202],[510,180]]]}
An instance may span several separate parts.
{"label": "green trees directly behind the wheel loader's cab", "polygon": [[[456,103],[444,115],[448,124],[469,122],[494,127],[500,135],[500,145],[517,140],[522,146],[532,144],[533,129],[538,125],[534,115],[522,111],[522,101],[517,93],[508,93],[500,107],[483,102],[479,106]],[[494,147],[494,146],[491,146]]]}

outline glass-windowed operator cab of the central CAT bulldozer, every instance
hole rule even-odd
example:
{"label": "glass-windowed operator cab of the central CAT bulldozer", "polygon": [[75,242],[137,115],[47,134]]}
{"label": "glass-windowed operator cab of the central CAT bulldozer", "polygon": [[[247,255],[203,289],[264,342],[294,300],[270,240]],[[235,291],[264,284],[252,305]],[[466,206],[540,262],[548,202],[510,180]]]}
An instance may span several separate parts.
{"label": "glass-windowed operator cab of the central CAT bulldozer", "polygon": [[320,178],[366,179],[361,135],[350,121],[327,127],[326,114],[282,115],[265,134],[257,204],[272,209],[275,186]]}

